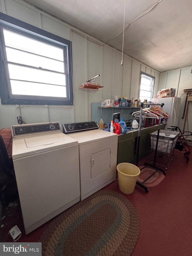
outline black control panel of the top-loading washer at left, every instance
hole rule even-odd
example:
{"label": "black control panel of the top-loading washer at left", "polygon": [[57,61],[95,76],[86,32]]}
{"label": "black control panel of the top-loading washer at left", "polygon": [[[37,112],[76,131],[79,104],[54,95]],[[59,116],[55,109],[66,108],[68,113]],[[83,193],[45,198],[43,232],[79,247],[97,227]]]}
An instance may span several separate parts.
{"label": "black control panel of the top-loading washer at left", "polygon": [[49,122],[39,124],[11,125],[12,136],[20,136],[35,133],[61,131],[60,122]]}

